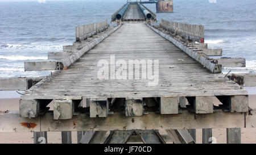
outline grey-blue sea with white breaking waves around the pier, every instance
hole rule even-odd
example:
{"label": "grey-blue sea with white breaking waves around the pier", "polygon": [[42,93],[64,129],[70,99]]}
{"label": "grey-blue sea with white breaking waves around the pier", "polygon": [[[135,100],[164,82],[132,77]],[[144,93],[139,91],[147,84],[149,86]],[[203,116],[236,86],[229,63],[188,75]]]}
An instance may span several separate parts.
{"label": "grey-blue sea with white breaking waves around the pier", "polygon": [[[211,3],[210,3],[211,2]],[[203,24],[205,43],[222,48],[224,57],[245,57],[246,68],[224,72],[256,72],[255,0],[174,0],[173,13],[156,14],[175,22]],[[110,21],[125,0],[0,2],[0,78],[45,76],[24,72],[24,61],[47,60],[48,52],[62,51],[75,41],[75,27]],[[155,12],[155,5],[146,5]]]}

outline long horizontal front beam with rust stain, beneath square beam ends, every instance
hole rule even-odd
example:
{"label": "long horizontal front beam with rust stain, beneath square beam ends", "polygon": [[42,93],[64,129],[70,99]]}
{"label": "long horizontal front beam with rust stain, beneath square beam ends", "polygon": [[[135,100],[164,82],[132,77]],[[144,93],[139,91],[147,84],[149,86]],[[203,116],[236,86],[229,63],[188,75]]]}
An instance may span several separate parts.
{"label": "long horizontal front beam with rust stain, beneath square beam ends", "polygon": [[[256,114],[254,115],[254,113],[253,115],[246,115],[246,127],[248,128],[256,126]],[[30,123],[30,125],[26,125],[26,123]],[[0,132],[235,127],[245,127],[245,115],[241,114],[241,112],[230,113],[222,110],[216,110],[212,114],[194,114],[189,111],[182,111],[181,114],[161,115],[155,112],[148,112],[147,115],[133,118],[125,116],[122,112],[114,112],[113,115],[109,115],[107,118],[90,118],[88,114],[80,114],[74,115],[72,119],[67,120],[55,120],[52,113],[31,119],[20,117],[19,112],[0,114]]]}

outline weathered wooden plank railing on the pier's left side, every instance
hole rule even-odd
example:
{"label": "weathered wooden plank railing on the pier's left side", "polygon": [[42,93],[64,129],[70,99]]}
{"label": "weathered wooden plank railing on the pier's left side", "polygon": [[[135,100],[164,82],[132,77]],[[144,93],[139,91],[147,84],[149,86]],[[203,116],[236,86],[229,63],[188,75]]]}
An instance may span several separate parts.
{"label": "weathered wooden plank railing on the pier's left side", "polygon": [[76,41],[84,40],[89,36],[96,34],[98,31],[103,31],[108,27],[108,20],[100,23],[86,24],[76,27]]}

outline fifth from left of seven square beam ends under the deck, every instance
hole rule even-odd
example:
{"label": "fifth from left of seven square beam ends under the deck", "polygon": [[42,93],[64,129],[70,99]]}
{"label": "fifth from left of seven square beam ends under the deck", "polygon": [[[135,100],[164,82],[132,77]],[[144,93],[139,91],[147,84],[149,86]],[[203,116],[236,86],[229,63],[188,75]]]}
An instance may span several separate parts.
{"label": "fifth from left of seven square beam ends under the deck", "polygon": [[161,114],[178,114],[178,100],[177,97],[160,98],[160,113]]}

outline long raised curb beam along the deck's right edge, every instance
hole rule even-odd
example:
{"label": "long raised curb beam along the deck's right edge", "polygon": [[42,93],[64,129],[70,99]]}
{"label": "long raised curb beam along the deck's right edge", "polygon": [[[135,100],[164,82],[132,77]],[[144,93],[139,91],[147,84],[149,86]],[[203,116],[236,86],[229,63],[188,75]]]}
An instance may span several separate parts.
{"label": "long raised curb beam along the deck's right edge", "polygon": [[206,57],[201,56],[199,53],[194,52],[192,49],[189,49],[188,47],[186,47],[185,45],[183,45],[182,43],[179,43],[179,41],[175,40],[173,37],[168,36],[167,34],[156,30],[154,27],[150,26],[149,24],[146,23],[146,25],[148,27],[150,27],[153,31],[155,31],[156,33],[158,33],[160,36],[164,37],[165,39],[171,41],[173,44],[175,44],[178,48],[181,49],[181,51],[187,53],[187,55],[189,55],[190,57],[192,57],[193,59],[195,59],[196,61],[200,62],[200,64],[204,65],[205,68],[207,68],[208,70],[210,70],[210,72],[212,73],[221,73],[221,65],[220,64],[213,64],[212,62],[210,62]]}

